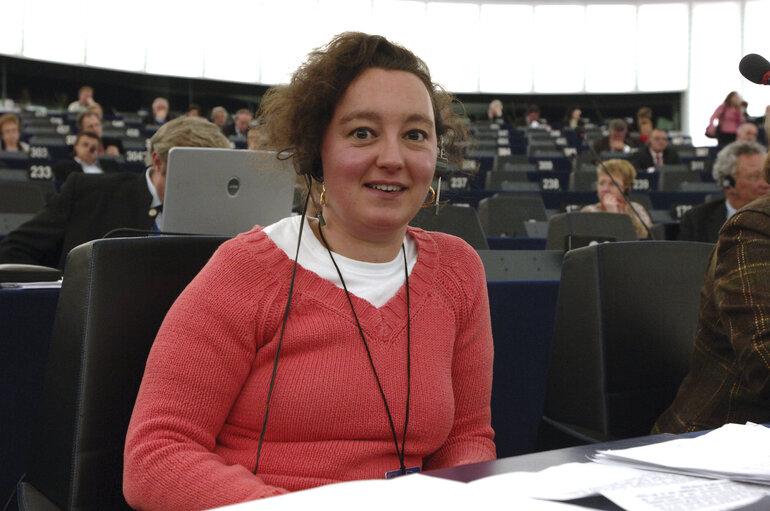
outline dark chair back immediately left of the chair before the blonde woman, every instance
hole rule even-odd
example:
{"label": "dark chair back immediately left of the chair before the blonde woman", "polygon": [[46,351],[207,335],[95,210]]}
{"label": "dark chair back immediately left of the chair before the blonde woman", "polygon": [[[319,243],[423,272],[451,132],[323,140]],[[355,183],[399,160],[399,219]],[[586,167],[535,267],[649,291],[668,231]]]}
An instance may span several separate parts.
{"label": "dark chair back immediately left of the chair before the blonde woman", "polygon": [[540,196],[503,195],[479,201],[479,220],[487,236],[527,236],[525,222],[547,219]]}

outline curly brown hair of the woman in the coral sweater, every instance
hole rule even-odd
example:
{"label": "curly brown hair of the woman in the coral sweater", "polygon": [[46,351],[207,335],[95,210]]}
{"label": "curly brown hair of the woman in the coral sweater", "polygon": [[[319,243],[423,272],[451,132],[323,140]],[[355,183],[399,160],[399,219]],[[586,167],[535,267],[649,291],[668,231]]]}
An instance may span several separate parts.
{"label": "curly brown hair of the woman in the coral sweater", "polygon": [[291,155],[298,174],[323,181],[321,142],[334,109],[348,86],[369,68],[407,71],[428,89],[436,119],[440,154],[453,163],[462,159],[460,142],[467,130],[452,109],[456,99],[433,83],[428,66],[414,53],[382,36],[345,32],[312,51],[288,85],[272,87],[262,98],[258,118],[267,145]]}

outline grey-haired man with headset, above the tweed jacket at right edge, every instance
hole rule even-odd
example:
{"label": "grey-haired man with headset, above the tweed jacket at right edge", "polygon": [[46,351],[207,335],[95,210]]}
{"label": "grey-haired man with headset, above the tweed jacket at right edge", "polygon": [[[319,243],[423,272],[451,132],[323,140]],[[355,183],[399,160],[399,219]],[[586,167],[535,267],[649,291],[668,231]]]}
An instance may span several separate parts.
{"label": "grey-haired man with headset, above the tweed jacket at right edge", "polygon": [[679,239],[716,243],[719,229],[746,204],[766,195],[770,185],[762,176],[765,148],[758,142],[736,141],[719,151],[714,180],[725,198],[692,208],[679,223]]}

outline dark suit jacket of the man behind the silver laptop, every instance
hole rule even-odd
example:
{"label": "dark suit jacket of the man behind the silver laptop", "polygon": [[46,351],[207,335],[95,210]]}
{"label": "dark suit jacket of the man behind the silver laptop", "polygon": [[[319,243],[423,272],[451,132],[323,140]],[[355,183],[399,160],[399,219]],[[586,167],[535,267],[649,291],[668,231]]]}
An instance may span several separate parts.
{"label": "dark suit jacket of the man behind the silver laptop", "polygon": [[45,209],[0,242],[0,263],[64,268],[72,248],[112,229],[152,229],[151,203],[144,173],[72,174]]}

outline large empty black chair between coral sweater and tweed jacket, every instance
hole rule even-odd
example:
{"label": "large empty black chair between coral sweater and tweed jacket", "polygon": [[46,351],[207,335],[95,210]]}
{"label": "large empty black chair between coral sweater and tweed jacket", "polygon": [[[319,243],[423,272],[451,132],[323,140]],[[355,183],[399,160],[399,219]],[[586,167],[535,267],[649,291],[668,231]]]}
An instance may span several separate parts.
{"label": "large empty black chair between coral sweater and tweed jacket", "polygon": [[689,369],[712,247],[647,241],[567,252],[539,447],[649,434]]}

